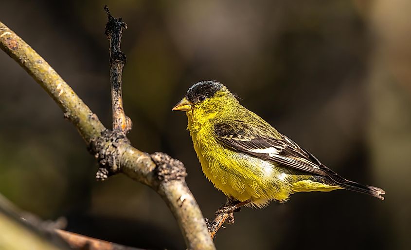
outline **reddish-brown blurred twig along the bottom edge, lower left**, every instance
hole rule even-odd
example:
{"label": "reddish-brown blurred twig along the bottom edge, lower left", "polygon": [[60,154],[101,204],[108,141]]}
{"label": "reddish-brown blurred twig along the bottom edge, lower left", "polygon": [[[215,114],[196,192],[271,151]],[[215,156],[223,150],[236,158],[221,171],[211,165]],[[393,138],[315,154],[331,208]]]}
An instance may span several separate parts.
{"label": "reddish-brown blurred twig along the bottom edge, lower left", "polygon": [[73,249],[80,250],[143,250],[132,247],[123,246],[120,244],[99,240],[84,236],[81,234],[64,231],[61,229],[55,230]]}

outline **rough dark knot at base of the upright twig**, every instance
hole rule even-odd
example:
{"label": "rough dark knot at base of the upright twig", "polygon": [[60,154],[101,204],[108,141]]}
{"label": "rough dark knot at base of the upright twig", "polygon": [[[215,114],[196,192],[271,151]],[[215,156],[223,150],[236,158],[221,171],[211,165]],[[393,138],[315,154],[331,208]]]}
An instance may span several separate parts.
{"label": "rough dark knot at base of the upright twig", "polygon": [[125,143],[129,144],[130,141],[122,131],[118,130],[105,130],[91,143],[90,153],[94,154],[100,165],[96,173],[97,180],[104,181],[120,171],[120,158],[123,152],[122,147],[119,146]]}

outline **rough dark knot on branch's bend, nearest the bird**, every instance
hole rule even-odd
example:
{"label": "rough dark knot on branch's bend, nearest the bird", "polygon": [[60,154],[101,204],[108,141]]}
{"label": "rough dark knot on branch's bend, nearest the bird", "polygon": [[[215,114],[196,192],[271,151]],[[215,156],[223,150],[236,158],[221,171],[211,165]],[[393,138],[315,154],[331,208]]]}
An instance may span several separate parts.
{"label": "rough dark knot on branch's bend, nearest the bird", "polygon": [[154,173],[160,182],[185,180],[187,172],[185,171],[184,164],[181,161],[173,159],[170,155],[160,152],[151,154],[151,158],[157,166]]}

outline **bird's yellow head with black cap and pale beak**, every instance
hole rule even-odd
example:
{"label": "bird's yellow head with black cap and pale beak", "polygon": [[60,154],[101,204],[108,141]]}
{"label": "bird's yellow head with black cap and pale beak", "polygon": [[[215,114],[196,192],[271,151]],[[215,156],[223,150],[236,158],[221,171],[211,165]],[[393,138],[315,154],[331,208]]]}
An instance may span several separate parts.
{"label": "bird's yellow head with black cap and pale beak", "polygon": [[223,84],[217,81],[200,81],[188,89],[173,110],[185,111],[189,118],[205,122],[222,116],[222,113],[227,113],[224,116],[235,114],[233,110],[237,105],[238,100]]}

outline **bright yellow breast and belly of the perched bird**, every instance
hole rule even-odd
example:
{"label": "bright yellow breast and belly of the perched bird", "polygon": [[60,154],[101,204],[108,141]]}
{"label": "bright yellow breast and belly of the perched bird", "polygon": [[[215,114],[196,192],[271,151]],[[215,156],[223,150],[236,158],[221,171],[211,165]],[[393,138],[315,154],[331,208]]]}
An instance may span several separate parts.
{"label": "bright yellow breast and belly of the perched bird", "polygon": [[[255,201],[257,206],[266,204],[268,200],[288,199],[291,185],[286,179],[276,177],[281,172],[273,164],[247,154],[234,153],[201,130],[190,134],[203,173],[225,195],[239,201]],[[207,143],[202,143],[205,141]]]}

